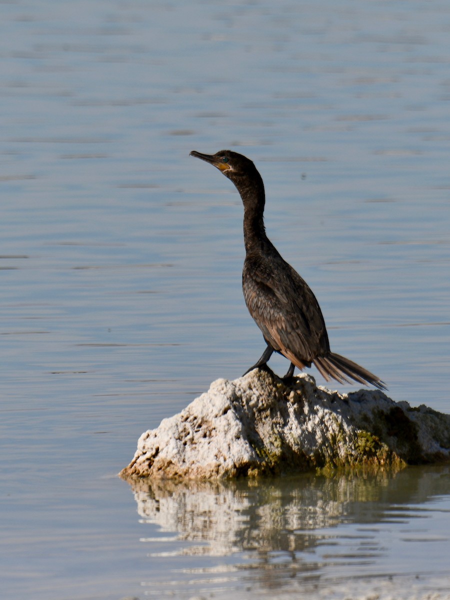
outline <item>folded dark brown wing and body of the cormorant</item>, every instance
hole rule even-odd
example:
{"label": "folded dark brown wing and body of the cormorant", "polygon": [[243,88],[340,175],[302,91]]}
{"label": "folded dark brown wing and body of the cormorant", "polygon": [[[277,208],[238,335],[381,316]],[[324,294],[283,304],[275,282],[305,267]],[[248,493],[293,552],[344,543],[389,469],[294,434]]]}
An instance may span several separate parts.
{"label": "folded dark brown wing and body of the cormorant", "polygon": [[248,256],[242,287],[247,308],[266,340],[294,364],[311,362],[329,350],[316,297],[280,256]]}

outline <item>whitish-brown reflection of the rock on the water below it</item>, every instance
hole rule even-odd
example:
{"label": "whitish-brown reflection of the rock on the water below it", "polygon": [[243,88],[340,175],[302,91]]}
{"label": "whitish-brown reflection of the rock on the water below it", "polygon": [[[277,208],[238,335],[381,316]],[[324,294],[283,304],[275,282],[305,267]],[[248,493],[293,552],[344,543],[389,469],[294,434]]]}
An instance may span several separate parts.
{"label": "whitish-brown reflection of the rock on the water below it", "polygon": [[391,504],[450,492],[448,467],[239,482],[134,479],[131,485],[141,517],[178,532],[180,540],[206,543],[203,551],[214,556],[302,551],[319,542],[317,529],[378,523]]}

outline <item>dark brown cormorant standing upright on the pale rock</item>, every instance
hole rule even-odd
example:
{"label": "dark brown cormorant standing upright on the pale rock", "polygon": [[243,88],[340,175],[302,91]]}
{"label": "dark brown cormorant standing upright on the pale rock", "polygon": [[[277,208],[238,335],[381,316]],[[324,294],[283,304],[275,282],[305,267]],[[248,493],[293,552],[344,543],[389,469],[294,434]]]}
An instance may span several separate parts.
{"label": "dark brown cormorant standing upright on the pale rock", "polygon": [[379,377],[364,367],[331,352],[316,296],[266,235],[264,184],[250,158],[231,150],[212,155],[193,150],[190,156],[217,167],[233,182],[244,205],[242,290],[248,311],[266,342],[263,355],[244,375],[256,368],[268,369],[269,358],[277,352],[290,361],[284,380],[292,379],[296,367],[303,370],[314,364],[327,382],[354,380],[387,389]]}

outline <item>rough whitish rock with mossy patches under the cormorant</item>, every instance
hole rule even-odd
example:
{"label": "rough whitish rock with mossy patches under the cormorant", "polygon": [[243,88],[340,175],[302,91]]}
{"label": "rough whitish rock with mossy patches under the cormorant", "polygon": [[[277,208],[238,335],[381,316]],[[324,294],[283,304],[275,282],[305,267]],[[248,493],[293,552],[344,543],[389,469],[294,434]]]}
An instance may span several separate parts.
{"label": "rough whitish rock with mossy patches under the cormorant", "polygon": [[146,431],[122,476],[235,478],[317,467],[448,460],[450,415],[383,392],[338,394],[254,370],[218,379],[181,413]]}

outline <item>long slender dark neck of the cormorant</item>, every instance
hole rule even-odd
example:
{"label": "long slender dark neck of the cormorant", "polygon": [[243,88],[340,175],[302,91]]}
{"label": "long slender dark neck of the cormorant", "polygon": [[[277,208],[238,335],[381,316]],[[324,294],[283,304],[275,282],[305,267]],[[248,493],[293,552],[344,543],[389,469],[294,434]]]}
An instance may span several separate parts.
{"label": "long slender dark neck of the cormorant", "polygon": [[257,175],[258,177],[251,181],[238,182],[237,185],[235,182],[244,204],[244,244],[247,252],[268,241],[263,218],[264,184],[259,173]]}

